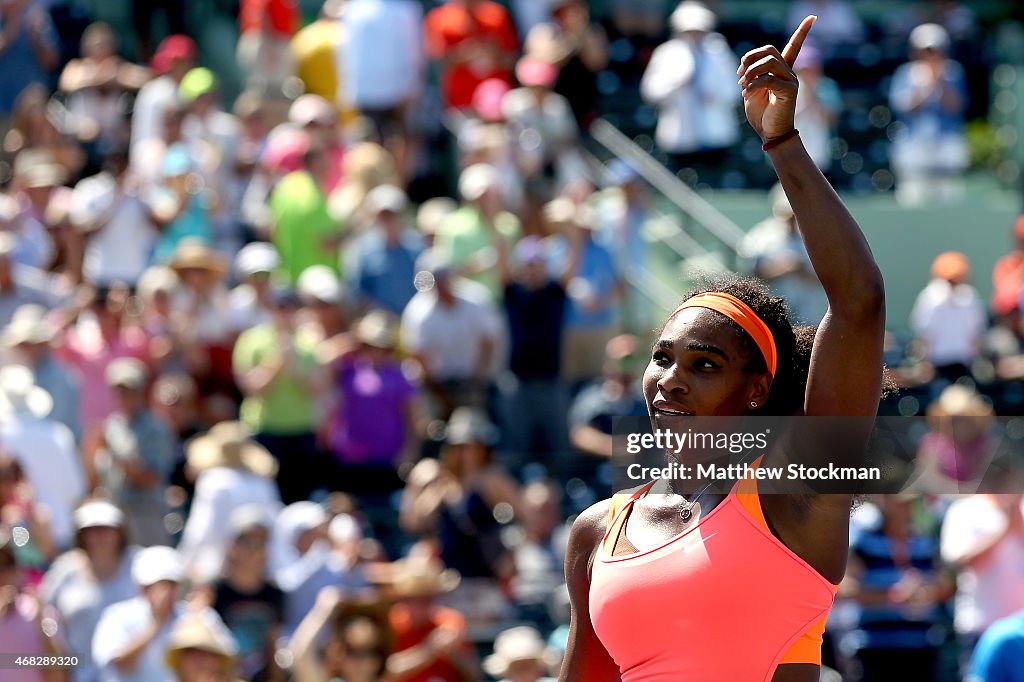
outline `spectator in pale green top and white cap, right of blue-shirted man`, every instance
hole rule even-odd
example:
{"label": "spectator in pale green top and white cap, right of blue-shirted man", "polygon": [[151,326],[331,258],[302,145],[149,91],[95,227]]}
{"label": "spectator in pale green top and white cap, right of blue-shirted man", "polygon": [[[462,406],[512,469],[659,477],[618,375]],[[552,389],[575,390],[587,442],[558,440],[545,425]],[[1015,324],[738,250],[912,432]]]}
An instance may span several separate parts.
{"label": "spectator in pale green top and white cap, right of blue-shirted man", "polygon": [[463,206],[451,214],[434,240],[434,246],[452,263],[456,273],[485,286],[495,302],[502,299],[498,279],[496,240],[511,251],[519,240],[519,219],[502,207],[498,169],[474,164],[459,177]]}

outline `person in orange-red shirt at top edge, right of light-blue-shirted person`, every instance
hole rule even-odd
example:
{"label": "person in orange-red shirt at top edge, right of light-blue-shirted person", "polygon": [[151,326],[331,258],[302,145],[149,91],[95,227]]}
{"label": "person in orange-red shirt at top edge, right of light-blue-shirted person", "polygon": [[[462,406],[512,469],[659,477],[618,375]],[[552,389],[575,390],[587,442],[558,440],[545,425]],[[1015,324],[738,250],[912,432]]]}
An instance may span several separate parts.
{"label": "person in orange-red shirt at top edge, right of light-blue-shirted person", "polygon": [[440,62],[445,106],[468,109],[488,78],[512,83],[519,42],[508,10],[490,0],[450,0],[427,14],[427,55]]}

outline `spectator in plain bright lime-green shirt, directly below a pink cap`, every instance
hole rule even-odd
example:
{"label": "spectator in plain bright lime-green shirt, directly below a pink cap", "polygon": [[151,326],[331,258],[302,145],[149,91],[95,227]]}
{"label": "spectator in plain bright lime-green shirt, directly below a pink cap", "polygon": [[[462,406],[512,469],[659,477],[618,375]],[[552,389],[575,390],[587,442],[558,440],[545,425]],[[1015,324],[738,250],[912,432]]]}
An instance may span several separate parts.
{"label": "spectator in plain bright lime-green shirt, directly below a pink cap", "polygon": [[291,285],[310,265],[338,268],[343,227],[328,211],[326,151],[310,145],[303,167],[283,177],[270,194],[271,241],[281,254],[281,273]]}

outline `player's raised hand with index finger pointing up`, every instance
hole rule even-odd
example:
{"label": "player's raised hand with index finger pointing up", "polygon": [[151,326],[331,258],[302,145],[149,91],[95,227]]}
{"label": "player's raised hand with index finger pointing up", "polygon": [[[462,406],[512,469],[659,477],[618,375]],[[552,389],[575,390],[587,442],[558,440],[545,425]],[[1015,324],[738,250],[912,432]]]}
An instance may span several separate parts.
{"label": "player's raised hand with index finger pointing up", "polygon": [[779,52],[773,45],[753,49],[739,60],[739,85],[743,88],[743,112],[762,140],[780,137],[794,128],[799,81],[793,65],[814,26],[808,16]]}

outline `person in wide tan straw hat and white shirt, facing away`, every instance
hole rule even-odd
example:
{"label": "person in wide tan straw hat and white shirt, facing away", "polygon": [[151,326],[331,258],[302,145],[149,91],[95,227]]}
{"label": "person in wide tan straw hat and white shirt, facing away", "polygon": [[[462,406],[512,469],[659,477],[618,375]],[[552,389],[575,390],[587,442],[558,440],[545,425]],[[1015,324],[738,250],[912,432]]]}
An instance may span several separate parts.
{"label": "person in wide tan straw hat and white shirt, facing away", "polygon": [[196,492],[178,550],[189,577],[209,583],[230,542],[224,521],[231,512],[246,505],[259,505],[268,513],[281,508],[273,480],[278,463],[238,422],[222,422],[191,440],[186,463],[197,474]]}

